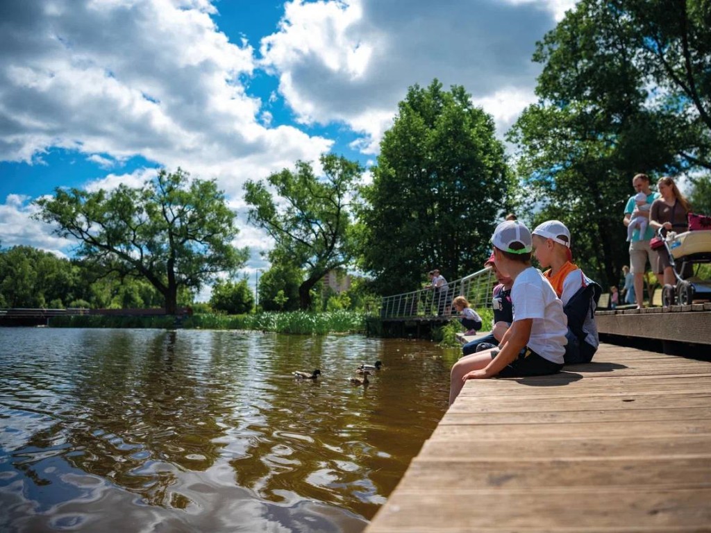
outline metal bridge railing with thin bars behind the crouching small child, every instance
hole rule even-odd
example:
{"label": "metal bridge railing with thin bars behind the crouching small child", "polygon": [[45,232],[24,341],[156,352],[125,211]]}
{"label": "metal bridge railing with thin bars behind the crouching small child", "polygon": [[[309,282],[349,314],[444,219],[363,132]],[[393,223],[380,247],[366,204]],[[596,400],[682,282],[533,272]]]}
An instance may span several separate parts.
{"label": "metal bridge railing with thin bars behind the crouching small child", "polygon": [[491,289],[496,278],[491,269],[481,269],[464,278],[450,281],[447,289],[419,291],[383,296],[374,314],[380,318],[432,318],[453,313],[451,301],[464,296],[474,309],[491,308]]}

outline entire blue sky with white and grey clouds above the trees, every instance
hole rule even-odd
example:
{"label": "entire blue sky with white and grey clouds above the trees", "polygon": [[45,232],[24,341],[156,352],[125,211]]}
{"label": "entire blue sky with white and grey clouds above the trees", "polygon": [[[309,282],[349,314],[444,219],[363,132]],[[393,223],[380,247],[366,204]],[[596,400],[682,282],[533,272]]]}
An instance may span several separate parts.
{"label": "entire blue sky with white and grey clouds above the trees", "polygon": [[573,4],[4,0],[0,243],[70,255],[33,200],[181,166],[225,190],[251,275],[269,242],[247,225],[247,179],[326,151],[368,166],[407,87],[434,77],[464,85],[503,137],[535,101],[535,41]]}

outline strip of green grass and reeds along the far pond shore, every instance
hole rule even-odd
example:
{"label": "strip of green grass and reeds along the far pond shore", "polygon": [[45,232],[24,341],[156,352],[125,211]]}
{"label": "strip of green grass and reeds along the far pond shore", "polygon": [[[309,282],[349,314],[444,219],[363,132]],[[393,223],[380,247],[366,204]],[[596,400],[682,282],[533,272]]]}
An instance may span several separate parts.
{"label": "strip of green grass and reeds along the far pond shore", "polygon": [[259,313],[256,315],[198,314],[172,316],[74,315],[52,318],[53,328],[184,328],[210,330],[260,330],[299,335],[360,333],[365,331],[365,314],[358,311],[307,313]]}

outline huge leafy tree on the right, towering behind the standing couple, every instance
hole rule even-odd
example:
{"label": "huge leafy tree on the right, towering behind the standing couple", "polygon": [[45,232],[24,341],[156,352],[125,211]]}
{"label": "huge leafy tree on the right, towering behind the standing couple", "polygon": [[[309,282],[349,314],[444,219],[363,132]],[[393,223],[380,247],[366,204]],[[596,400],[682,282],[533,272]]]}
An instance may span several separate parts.
{"label": "huge leafy tree on the right, towering behind the standing couple", "polygon": [[684,112],[673,84],[660,89],[663,69],[646,50],[651,23],[643,11],[662,4],[582,0],[568,11],[537,44],[539,101],[508,134],[520,149],[523,188],[538,206],[535,220],[563,220],[579,263],[607,285],[616,284],[627,256],[621,219],[631,178],[688,170],[707,150],[702,124]]}

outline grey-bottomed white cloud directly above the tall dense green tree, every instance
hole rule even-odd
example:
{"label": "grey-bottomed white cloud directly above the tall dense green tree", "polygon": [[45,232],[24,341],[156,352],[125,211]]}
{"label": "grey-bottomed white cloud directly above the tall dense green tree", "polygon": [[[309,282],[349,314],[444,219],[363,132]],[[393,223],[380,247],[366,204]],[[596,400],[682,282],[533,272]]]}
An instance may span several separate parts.
{"label": "grey-bottomed white cloud directly above the tall dense green tree", "polygon": [[464,85],[503,131],[531,101],[535,41],[572,5],[294,0],[260,53],[301,122],[344,122],[364,134],[352,146],[374,154],[407,86],[435,77],[445,87]]}

